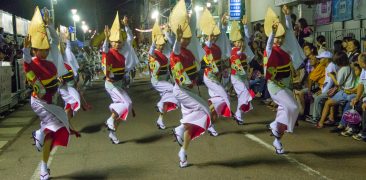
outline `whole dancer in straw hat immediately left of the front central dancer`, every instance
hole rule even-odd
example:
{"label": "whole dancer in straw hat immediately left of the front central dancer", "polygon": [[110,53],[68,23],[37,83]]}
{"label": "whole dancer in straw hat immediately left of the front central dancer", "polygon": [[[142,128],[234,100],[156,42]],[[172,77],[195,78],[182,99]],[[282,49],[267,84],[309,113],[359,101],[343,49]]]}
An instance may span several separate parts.
{"label": "whole dancer in straw hat immediately left of the front central dancer", "polygon": [[165,129],[163,121],[166,112],[178,108],[178,100],[173,94],[173,84],[169,82],[169,60],[163,53],[166,44],[164,33],[161,31],[158,21],[152,30],[152,45],[149,51],[149,68],[151,76],[151,84],[160,94],[160,101],[156,107],[159,112],[159,118],[156,125],[159,129]]}

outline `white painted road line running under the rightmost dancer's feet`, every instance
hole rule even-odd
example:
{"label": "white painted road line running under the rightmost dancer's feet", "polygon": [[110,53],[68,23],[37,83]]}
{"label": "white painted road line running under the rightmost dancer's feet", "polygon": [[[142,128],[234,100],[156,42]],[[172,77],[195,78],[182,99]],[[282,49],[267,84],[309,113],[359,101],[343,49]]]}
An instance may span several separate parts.
{"label": "white painted road line running under the rightmost dancer's feet", "polygon": [[[250,140],[254,141],[254,142],[257,142],[258,144],[264,146],[265,148],[271,150],[271,151],[274,151],[274,147],[266,142],[264,142],[263,140],[259,139],[257,136],[253,135],[253,134],[245,134],[245,137],[249,138]],[[309,175],[312,175],[312,176],[318,176],[319,178],[322,178],[322,179],[327,179],[329,180],[330,178],[320,174],[319,171],[316,171],[314,170],[313,168],[309,167],[308,165],[304,164],[304,163],[301,163],[299,162],[298,160],[288,156],[287,154],[283,154],[283,155],[280,155],[281,157],[284,157],[287,161],[289,161],[290,163],[293,163],[293,164],[296,164],[296,166],[298,168],[300,168],[301,170],[307,172]]]}

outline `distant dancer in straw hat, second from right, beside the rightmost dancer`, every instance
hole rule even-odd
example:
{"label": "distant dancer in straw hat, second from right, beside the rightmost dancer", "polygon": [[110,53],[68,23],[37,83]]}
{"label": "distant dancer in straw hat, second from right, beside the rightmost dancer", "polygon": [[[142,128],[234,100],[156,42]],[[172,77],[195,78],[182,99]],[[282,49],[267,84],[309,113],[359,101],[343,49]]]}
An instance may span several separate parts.
{"label": "distant dancer in straw hat, second from right, beside the rightmost dancer", "polygon": [[[246,17],[243,17],[244,28],[246,28]],[[231,66],[231,83],[238,96],[238,106],[234,115],[234,119],[238,125],[244,125],[242,113],[246,113],[253,109],[251,101],[254,93],[249,89],[248,83],[248,57],[245,54],[246,43],[244,42],[240,31],[239,22],[233,21],[230,31],[230,40],[234,47],[231,50],[230,66]]]}

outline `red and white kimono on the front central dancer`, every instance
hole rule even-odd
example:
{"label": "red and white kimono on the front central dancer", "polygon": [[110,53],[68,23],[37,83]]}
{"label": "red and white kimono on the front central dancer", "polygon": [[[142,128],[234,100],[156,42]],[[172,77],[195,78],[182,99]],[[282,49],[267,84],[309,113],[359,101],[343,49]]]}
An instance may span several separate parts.
{"label": "red and white kimono on the front central dancer", "polygon": [[211,125],[210,111],[207,103],[192,90],[198,75],[194,55],[179,46],[180,43],[176,42],[175,50],[170,56],[170,67],[175,80],[173,93],[181,104],[183,117],[180,122],[193,126],[191,139],[195,139]]}

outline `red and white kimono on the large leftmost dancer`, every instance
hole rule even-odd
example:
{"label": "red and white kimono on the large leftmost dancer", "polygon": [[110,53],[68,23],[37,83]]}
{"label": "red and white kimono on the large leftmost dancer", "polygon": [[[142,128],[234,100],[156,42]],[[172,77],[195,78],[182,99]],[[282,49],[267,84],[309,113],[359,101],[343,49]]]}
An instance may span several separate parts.
{"label": "red and white kimono on the large leftmost dancer", "polygon": [[70,134],[67,115],[61,107],[52,104],[59,85],[56,66],[50,61],[32,58],[28,48],[24,48],[23,53],[26,78],[33,87],[31,107],[41,120],[40,130],[46,139],[53,139],[52,147],[67,146]]}

